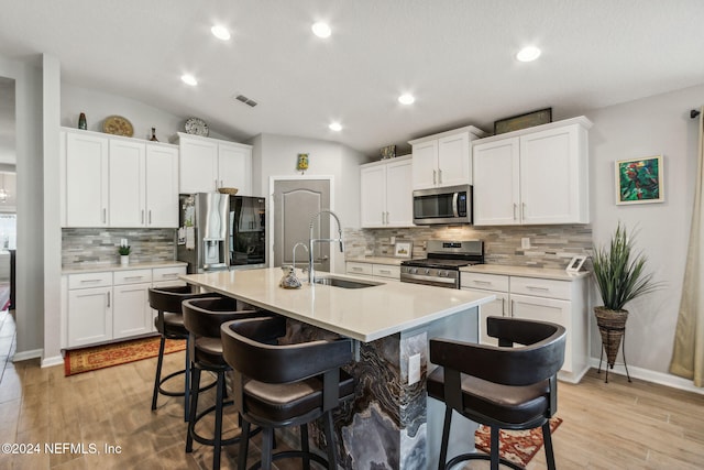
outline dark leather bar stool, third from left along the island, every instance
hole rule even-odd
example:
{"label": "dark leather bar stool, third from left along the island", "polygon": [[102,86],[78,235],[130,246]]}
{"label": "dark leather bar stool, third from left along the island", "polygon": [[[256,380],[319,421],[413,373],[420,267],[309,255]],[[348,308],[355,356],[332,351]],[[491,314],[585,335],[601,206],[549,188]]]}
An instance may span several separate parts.
{"label": "dark leather bar stool, third from left along the island", "polygon": [[[272,461],[302,458],[304,468],[315,460],[338,468],[332,411],[354,396],[354,380],[341,369],[352,360],[352,340],[276,343],[286,334],[282,317],[252,318],[223,324],[222,347],[233,370],[233,400],[242,417],[239,469],[246,468],[251,425],[262,429],[261,467]],[[322,417],[328,459],[309,451],[308,423]],[[274,429],[299,426],[300,450],[273,453]],[[254,464],[252,468],[256,468]]]}

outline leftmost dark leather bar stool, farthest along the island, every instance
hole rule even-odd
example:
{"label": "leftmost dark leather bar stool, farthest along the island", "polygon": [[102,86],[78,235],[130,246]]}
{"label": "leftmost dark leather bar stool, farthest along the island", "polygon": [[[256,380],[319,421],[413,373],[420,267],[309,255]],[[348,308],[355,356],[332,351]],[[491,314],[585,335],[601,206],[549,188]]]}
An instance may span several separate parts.
{"label": "leftmost dark leather bar stool, farthest along the island", "polygon": [[[194,287],[185,286],[168,286],[168,287],[152,287],[148,291],[150,306],[157,311],[156,318],[154,318],[154,326],[161,334],[162,338],[158,345],[158,359],[156,361],[156,374],[154,376],[154,391],[152,393],[152,409],[156,409],[156,400],[158,394],[166,396],[183,396],[184,397],[184,419],[188,420],[188,401],[190,393],[190,374],[189,370],[190,358],[188,357],[188,348],[186,348],[186,364],[183,370],[173,372],[165,378],[162,378],[162,367],[164,364],[164,346],[167,339],[182,339],[188,341],[188,330],[184,326],[184,316],[180,311],[182,302],[188,298],[212,296],[212,294],[202,294],[196,291]],[[183,392],[172,392],[164,390],[163,385],[166,381],[176,375],[184,374],[184,390]],[[215,383],[213,383],[215,384]],[[212,386],[212,385],[210,385]]]}

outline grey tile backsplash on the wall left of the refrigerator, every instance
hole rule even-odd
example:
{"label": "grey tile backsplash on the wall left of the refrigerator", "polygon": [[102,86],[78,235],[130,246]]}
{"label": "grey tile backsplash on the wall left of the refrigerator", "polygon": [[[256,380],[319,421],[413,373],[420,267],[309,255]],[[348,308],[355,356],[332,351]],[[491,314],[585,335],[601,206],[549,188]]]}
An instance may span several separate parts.
{"label": "grey tile backsplash on the wall left of the refrigerator", "polygon": [[62,229],[62,266],[109,266],[120,263],[121,239],[132,247],[130,263],[176,259],[176,229]]}

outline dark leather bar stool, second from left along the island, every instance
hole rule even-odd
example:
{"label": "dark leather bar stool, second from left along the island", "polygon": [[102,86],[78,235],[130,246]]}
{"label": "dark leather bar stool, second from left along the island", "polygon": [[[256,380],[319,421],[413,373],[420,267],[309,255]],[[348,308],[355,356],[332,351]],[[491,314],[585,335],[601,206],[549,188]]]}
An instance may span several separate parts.
{"label": "dark leather bar stool, second from left along the island", "polygon": [[[186,452],[193,451],[194,440],[206,446],[213,446],[212,468],[220,468],[220,449],[222,446],[235,444],[240,436],[222,438],[222,408],[231,405],[226,402],[226,372],[230,365],[222,356],[220,325],[234,319],[262,316],[261,310],[238,310],[238,303],[229,297],[202,297],[185,300],[182,305],[184,326],[190,335],[190,416],[186,435]],[[198,397],[201,371],[215,372],[216,404],[198,413]],[[212,437],[196,433],[196,424],[209,413],[215,412],[215,430]]]}

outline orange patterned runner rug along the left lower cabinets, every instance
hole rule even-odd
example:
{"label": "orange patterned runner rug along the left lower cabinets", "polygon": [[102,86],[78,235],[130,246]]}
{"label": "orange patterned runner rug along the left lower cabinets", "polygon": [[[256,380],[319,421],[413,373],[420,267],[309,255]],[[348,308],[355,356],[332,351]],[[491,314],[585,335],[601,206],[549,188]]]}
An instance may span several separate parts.
{"label": "orange patterned runner rug along the left lower cabinets", "polygon": [[[158,356],[160,337],[140,338],[111,345],[94,346],[81,349],[69,349],[64,357],[64,374],[75,375],[82,372],[125,364]],[[184,340],[166,340],[164,353],[183,351]]]}

